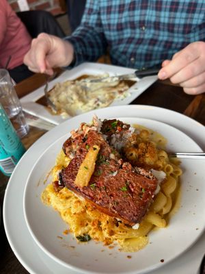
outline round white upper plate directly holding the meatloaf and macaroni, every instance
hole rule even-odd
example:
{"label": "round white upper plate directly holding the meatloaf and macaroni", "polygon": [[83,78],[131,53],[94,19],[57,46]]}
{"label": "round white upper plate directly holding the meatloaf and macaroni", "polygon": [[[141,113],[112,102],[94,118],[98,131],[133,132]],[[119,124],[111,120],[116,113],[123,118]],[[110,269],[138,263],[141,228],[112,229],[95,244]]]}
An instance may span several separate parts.
{"label": "round white upper plate directly holding the meatloaf and macaroni", "polygon": [[[189,136],[165,123],[139,118],[120,120],[125,123],[144,125],[159,132],[168,141],[168,151],[202,151]],[[68,123],[65,123],[64,127],[67,127],[68,131],[73,129]],[[56,130],[59,128],[57,127]],[[111,250],[103,247],[102,244],[96,245],[93,240],[87,245],[78,245],[71,234],[64,236],[63,232],[68,229],[68,226],[57,212],[42,204],[40,195],[46,186],[44,184],[46,176],[54,166],[55,158],[66,138],[68,134],[56,140],[42,153],[31,170],[24,195],[25,220],[29,232],[39,247],[53,260],[83,273],[92,271],[93,273],[137,274],[162,266],[161,259],[165,261],[164,264],[173,260],[200,236],[205,226],[205,185],[202,181],[204,170],[201,160],[182,162],[182,208],[172,218],[166,229],[159,229],[150,234],[152,245],[148,245],[145,249],[137,253],[123,253],[118,251],[119,247]],[[59,236],[63,239],[59,240]],[[178,245],[179,242],[180,245]],[[68,248],[70,246],[74,247],[74,251]],[[178,247],[177,250],[175,247]],[[78,253],[78,256],[74,256],[75,253]],[[128,255],[131,255],[133,260],[128,260],[126,258]]]}

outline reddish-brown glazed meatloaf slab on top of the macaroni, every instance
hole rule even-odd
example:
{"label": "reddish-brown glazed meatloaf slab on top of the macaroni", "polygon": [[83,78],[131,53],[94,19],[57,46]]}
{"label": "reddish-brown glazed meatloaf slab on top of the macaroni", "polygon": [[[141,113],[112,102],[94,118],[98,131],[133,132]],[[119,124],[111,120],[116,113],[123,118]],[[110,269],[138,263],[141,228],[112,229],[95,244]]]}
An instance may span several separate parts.
{"label": "reddish-brown glazed meatloaf slab on top of the macaroni", "polygon": [[[116,124],[113,120],[111,123]],[[107,124],[103,127],[104,133],[106,127]],[[120,127],[123,129],[122,122]],[[105,134],[93,127],[85,126],[82,129],[81,125],[81,129],[72,132],[72,136],[64,143],[64,152],[72,160],[59,174],[60,184],[84,197],[109,216],[114,216],[128,225],[140,223],[154,197],[156,178],[152,173],[135,169],[128,162],[124,162],[120,154],[109,145]],[[128,130],[127,125],[124,130]],[[94,145],[100,147],[94,173],[89,184],[81,188],[74,184],[74,181],[87,154],[87,148]]]}

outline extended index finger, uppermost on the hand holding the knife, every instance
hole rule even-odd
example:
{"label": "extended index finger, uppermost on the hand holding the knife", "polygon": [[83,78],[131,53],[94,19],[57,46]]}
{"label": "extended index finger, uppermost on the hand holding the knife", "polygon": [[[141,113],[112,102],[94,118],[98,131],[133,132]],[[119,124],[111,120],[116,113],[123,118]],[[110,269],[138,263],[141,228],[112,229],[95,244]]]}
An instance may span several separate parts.
{"label": "extended index finger, uppermost on the hand holding the knife", "polygon": [[[200,57],[200,53],[202,50],[202,47],[198,44],[200,42],[195,42],[190,45],[188,45],[186,48],[184,48],[178,55],[176,55],[176,58],[172,59],[167,66],[163,67],[158,74],[159,79],[167,79],[169,77],[172,77],[174,74],[178,73],[181,69],[183,69],[185,66],[193,62],[194,60],[197,60],[197,58]],[[204,44],[204,42],[202,42]],[[197,45],[199,45],[199,48],[197,48]],[[205,47],[205,46],[204,46]]]}

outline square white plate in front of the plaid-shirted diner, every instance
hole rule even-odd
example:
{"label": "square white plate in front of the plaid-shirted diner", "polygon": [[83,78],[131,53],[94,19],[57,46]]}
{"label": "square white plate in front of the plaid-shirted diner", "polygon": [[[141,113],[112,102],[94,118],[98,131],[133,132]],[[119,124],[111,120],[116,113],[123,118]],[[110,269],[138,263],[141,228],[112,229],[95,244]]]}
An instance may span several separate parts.
{"label": "square white plate in front of the plaid-shirted diner", "polygon": [[[126,73],[133,73],[134,71],[134,69],[128,69],[122,66],[112,66],[108,64],[86,62],[80,64],[79,66],[75,67],[70,71],[64,72],[59,77],[57,77],[57,79],[51,81],[49,83],[49,89],[53,88],[53,86],[58,82],[61,83],[68,79],[77,79],[77,77],[80,77],[81,75],[102,75],[104,73],[109,73],[109,75],[121,75]],[[151,86],[151,84],[153,84],[156,81],[156,79],[156,76],[144,77],[139,82],[131,86],[131,88],[129,88],[129,92],[131,94],[130,96],[122,100],[116,99],[115,101],[113,101],[113,103],[111,103],[110,106],[128,105],[129,103],[131,103],[131,101],[133,101],[135,98],[141,95],[141,93],[144,90]],[[55,125],[64,122],[65,119],[63,119],[60,115],[52,115],[50,112],[48,112],[48,110],[46,110],[46,108],[44,108],[43,105],[36,103],[36,101],[40,99],[43,95],[44,86],[38,88],[37,90],[34,90],[33,92],[29,93],[29,95],[26,95],[25,97],[20,99],[23,110],[25,110],[25,112],[38,116],[46,121],[54,123]]]}

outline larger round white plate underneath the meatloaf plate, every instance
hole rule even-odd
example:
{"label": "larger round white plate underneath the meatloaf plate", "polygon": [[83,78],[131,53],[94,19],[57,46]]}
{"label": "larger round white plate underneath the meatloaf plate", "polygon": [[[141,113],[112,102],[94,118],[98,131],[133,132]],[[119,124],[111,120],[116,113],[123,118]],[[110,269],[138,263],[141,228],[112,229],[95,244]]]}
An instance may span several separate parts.
{"label": "larger round white plate underneath the meatloaf plate", "polygon": [[[163,108],[151,107],[148,105],[126,105],[122,107],[97,110],[96,112],[76,116],[74,119],[70,120],[69,123],[67,121],[66,124],[68,123],[68,125],[70,124],[70,127],[75,128],[81,121],[90,121],[94,113],[98,114],[98,116],[102,119],[108,117],[112,119],[116,116],[132,116],[162,121],[169,125],[174,125],[174,127],[177,127],[182,130],[182,132],[185,132],[193,138],[193,140],[195,140],[203,150],[205,150],[205,128],[203,125],[189,119],[187,116],[178,114],[177,112],[165,110]],[[5,192],[3,204],[5,232],[16,257],[23,264],[23,266],[25,266],[29,273],[76,273],[52,260],[36,245],[29,234],[23,216],[23,192],[25,190],[25,182],[27,181],[27,177],[29,176],[33,164],[35,164],[40,155],[44,152],[45,143],[46,147],[49,147],[53,144],[53,142],[55,142],[55,140],[61,136],[64,136],[64,134],[68,132],[68,128],[64,127],[64,124],[60,125],[58,129],[58,131],[53,129],[51,132],[48,132],[42,136],[42,138],[35,142],[27,153],[25,153],[23,158],[18,163],[18,166],[16,166]],[[193,247],[191,247],[191,249],[189,249],[189,251],[184,253],[184,255],[180,256],[172,263],[166,264],[161,269],[152,271],[152,274],[197,273],[200,260],[202,259],[204,253],[204,245],[205,234]],[[75,255],[77,256],[77,254]],[[146,258],[143,260],[146,260]],[[113,259],[113,264],[114,263],[115,260]]]}

